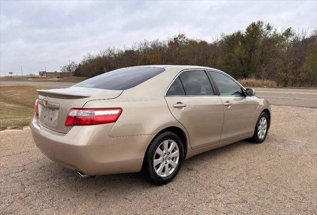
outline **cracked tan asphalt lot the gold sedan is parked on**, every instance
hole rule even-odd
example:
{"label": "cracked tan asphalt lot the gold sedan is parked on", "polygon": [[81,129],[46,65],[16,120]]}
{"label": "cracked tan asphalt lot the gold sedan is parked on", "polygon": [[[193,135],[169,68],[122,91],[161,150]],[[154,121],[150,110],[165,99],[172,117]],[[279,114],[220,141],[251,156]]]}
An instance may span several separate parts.
{"label": "cracked tan asphalt lot the gold sedan is parked on", "polygon": [[163,186],[139,173],[81,179],[42,155],[28,128],[0,141],[1,214],[317,213],[317,108],[272,106],[264,143],[190,158]]}

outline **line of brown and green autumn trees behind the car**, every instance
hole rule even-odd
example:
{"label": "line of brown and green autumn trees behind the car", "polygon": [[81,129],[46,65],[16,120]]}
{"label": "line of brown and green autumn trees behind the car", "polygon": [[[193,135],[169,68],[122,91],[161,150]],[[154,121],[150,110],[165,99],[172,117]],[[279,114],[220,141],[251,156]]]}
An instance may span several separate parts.
{"label": "line of brown and green autumn trees behind the car", "polygon": [[317,28],[313,32],[278,31],[256,21],[244,31],[221,34],[212,42],[179,34],[167,40],[142,41],[130,48],[106,48],[70,62],[61,71],[74,76],[96,75],[128,66],[174,64],[220,69],[236,79],[273,80],[282,87],[317,87]]}

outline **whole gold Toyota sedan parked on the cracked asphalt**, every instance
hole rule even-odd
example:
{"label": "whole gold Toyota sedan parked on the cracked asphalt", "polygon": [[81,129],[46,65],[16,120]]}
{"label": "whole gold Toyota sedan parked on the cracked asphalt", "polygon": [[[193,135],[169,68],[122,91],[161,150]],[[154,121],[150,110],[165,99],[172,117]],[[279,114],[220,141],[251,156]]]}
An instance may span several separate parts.
{"label": "whole gold Toyota sedan parked on the cracked asphalt", "polygon": [[81,177],[142,171],[164,184],[194,155],[262,143],[270,125],[255,90],[202,66],[127,67],[38,93],[35,144]]}

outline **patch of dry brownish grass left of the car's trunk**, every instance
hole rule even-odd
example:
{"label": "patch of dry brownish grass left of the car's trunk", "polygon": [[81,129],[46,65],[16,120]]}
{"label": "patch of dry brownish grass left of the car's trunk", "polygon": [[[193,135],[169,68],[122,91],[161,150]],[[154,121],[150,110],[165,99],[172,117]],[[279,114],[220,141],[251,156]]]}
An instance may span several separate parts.
{"label": "patch of dry brownish grass left of the car's trunk", "polygon": [[30,123],[38,97],[37,89],[30,86],[0,86],[0,130],[21,129]]}

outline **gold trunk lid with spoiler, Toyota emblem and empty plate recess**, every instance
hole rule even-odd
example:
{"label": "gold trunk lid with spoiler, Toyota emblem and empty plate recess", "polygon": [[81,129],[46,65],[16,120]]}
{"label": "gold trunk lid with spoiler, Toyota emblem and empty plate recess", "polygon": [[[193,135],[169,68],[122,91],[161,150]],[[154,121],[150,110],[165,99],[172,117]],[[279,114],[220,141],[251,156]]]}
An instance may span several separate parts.
{"label": "gold trunk lid with spoiler, Toyota emblem and empty plate recess", "polygon": [[117,98],[122,90],[70,87],[37,92],[40,124],[53,131],[67,133],[71,126],[65,126],[65,121],[71,108],[82,108],[92,100]]}

